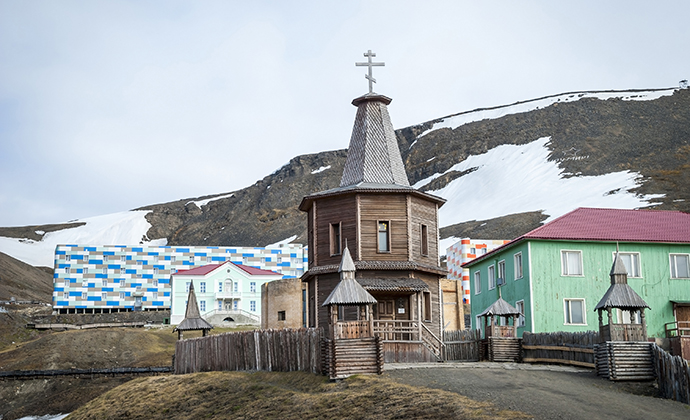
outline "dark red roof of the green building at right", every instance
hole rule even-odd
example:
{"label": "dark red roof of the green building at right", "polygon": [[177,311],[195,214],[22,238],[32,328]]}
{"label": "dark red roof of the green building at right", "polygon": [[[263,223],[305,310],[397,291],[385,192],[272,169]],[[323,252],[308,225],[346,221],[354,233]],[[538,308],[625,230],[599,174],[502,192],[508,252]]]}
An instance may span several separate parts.
{"label": "dark red roof of the green building at right", "polygon": [[462,267],[470,267],[530,239],[687,244],[690,243],[690,214],[665,210],[580,207],[462,264]]}

